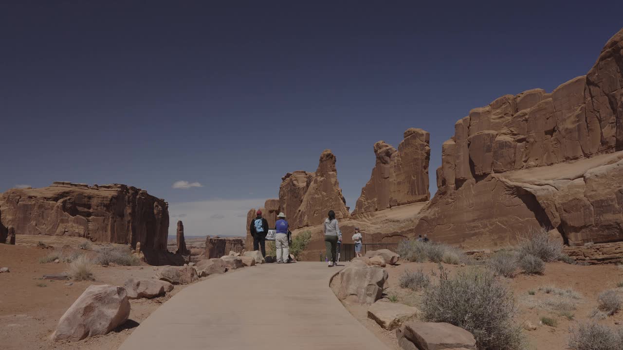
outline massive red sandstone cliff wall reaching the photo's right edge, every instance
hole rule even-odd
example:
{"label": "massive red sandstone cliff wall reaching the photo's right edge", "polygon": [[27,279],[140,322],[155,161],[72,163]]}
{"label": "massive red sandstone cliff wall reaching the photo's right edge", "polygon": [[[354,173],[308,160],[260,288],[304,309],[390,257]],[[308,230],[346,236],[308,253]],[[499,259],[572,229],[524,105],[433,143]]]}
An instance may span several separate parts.
{"label": "massive red sandstone cliff wall reaching the photo's right edge", "polygon": [[[600,155],[622,149],[623,30],[586,76],[505,95],[457,121],[415,233],[495,246],[546,226],[571,245],[621,240],[621,165]],[[556,174],[554,164],[574,165]]]}

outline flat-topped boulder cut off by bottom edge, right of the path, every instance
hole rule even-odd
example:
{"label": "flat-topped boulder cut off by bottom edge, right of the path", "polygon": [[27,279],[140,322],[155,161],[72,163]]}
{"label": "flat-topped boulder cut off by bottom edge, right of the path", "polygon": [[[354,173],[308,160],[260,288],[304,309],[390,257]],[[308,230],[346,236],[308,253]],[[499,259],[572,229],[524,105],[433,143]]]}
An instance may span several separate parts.
{"label": "flat-topped boulder cut off by bottom edge, right of the path", "polygon": [[396,329],[396,338],[406,350],[476,350],[472,333],[450,323],[408,322]]}

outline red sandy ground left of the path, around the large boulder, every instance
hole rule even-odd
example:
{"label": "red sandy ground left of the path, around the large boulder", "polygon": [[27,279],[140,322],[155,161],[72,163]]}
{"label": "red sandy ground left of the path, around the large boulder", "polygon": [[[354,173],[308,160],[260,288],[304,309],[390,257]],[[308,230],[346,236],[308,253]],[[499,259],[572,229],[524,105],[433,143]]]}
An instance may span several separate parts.
{"label": "red sandy ground left of the path, around the large boulder", "polygon": [[[52,342],[49,339],[57,323],[67,308],[92,284],[123,285],[128,278],[150,278],[158,268],[145,266],[101,267],[93,268],[95,281],[54,281],[40,280],[43,275],[62,273],[67,270],[67,263],[39,263],[53,249],[35,247],[38,240],[45,244],[63,247],[77,247],[83,239],[70,237],[24,236],[17,237],[18,242],[26,245],[0,244],[0,267],[9,267],[11,272],[0,273],[0,349],[117,349],[131,333],[132,328],[149,316],[161,303],[171,298],[184,288],[175,286],[166,296],[151,300],[130,300],[130,319],[105,336],[87,338],[77,343]],[[40,285],[40,286],[38,286]]]}

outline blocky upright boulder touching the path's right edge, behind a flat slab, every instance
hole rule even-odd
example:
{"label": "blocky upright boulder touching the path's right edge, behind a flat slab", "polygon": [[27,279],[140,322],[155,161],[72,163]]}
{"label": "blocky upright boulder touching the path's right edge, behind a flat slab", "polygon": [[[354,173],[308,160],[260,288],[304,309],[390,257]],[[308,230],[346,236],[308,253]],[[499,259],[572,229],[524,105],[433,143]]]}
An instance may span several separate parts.
{"label": "blocky upright boulder touching the path's right edge, behind a flat slab", "polygon": [[338,298],[350,303],[371,304],[383,295],[388,273],[379,266],[354,262],[340,271]]}

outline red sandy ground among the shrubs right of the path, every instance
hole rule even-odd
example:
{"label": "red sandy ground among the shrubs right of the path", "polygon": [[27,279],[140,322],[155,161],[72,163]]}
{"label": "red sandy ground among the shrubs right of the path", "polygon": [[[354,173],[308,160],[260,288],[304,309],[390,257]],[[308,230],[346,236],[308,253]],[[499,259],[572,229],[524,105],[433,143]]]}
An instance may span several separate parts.
{"label": "red sandy ground among the shrubs right of the path", "polygon": [[[425,273],[435,272],[439,275],[439,270],[435,263],[403,262],[397,266],[388,266],[386,269],[389,272],[389,280],[384,293],[386,295],[397,294],[398,303],[418,306],[421,302],[422,293],[414,293],[411,290],[400,288],[398,286],[398,279],[404,270],[419,270],[420,268],[422,268]],[[444,268],[447,268],[452,276],[457,270],[468,269],[470,267],[458,267],[444,264]],[[435,280],[434,277],[431,277],[431,279]],[[530,321],[537,326],[537,329],[534,331],[523,331],[530,342],[528,349],[563,350],[566,349],[566,344],[569,339],[569,328],[578,323],[578,321],[592,320],[589,318],[589,314],[597,306],[597,296],[603,290],[617,288],[617,282],[623,281],[623,268],[619,268],[615,265],[580,266],[556,262],[547,264],[544,275],[516,275],[514,278],[504,280],[515,294],[515,299],[520,310],[517,318],[518,323]],[[546,285],[554,285],[559,288],[570,287],[581,293],[582,298],[577,300],[576,303],[577,310],[573,311],[573,320],[569,321],[563,316],[542,310],[538,307],[530,308],[535,305],[535,303],[538,303],[538,301],[553,297],[538,290],[540,286]],[[528,291],[530,290],[535,290],[536,294],[529,295]],[[623,288],[617,288],[617,290],[623,297]],[[353,316],[359,319],[366,328],[381,338],[389,347],[397,350],[401,349],[397,345],[395,331],[386,331],[376,324],[376,322],[368,319],[368,306],[346,305],[346,308]],[[542,316],[556,319],[556,321],[558,321],[558,326],[553,328],[540,324],[540,318]],[[619,313],[614,316],[609,316],[599,322],[611,328],[623,327],[621,326],[621,324],[623,324],[623,311],[619,311]]]}

